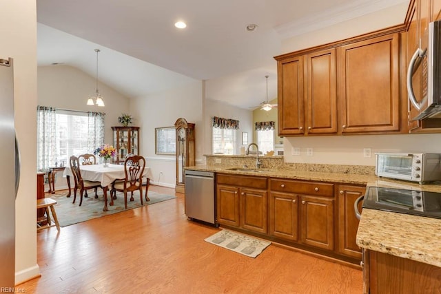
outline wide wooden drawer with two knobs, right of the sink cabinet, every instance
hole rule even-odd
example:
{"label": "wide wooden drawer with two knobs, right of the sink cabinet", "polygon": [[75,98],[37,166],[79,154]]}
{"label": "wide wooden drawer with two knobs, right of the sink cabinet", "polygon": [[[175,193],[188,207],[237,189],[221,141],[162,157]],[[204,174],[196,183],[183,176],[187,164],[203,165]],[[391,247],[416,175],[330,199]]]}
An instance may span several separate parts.
{"label": "wide wooden drawer with two knobs, right of the sink cabinet", "polygon": [[334,197],[334,184],[271,178],[269,185],[271,187],[271,191]]}

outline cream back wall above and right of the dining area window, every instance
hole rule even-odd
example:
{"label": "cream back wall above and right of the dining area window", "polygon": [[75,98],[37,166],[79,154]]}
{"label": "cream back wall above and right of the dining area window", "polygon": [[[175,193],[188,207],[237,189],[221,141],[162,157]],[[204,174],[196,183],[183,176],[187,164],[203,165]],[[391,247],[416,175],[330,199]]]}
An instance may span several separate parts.
{"label": "cream back wall above and right of the dining area window", "polygon": [[[129,98],[108,85],[98,83],[105,106],[90,106],[86,103],[89,96],[95,93],[96,79],[93,76],[68,65],[39,66],[37,70],[39,105],[84,112],[104,112],[105,143],[113,145],[111,127],[121,125],[118,123],[118,116],[129,112]],[[134,125],[136,123],[138,121],[134,120]]]}

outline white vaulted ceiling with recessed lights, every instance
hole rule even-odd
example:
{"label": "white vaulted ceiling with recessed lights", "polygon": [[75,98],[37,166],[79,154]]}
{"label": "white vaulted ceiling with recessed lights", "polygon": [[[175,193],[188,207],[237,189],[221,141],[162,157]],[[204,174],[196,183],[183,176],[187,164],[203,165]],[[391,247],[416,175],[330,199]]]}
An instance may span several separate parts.
{"label": "white vaulted ceiling with recessed lights", "polygon": [[[269,98],[276,97],[273,56],[283,53],[283,39],[403,2],[37,0],[38,64],[95,76],[99,48],[99,79],[125,96],[225,78],[224,96],[230,89],[240,97],[227,102],[247,108],[265,100],[267,74]],[[178,30],[176,21],[187,28]],[[258,27],[249,32],[249,24]]]}

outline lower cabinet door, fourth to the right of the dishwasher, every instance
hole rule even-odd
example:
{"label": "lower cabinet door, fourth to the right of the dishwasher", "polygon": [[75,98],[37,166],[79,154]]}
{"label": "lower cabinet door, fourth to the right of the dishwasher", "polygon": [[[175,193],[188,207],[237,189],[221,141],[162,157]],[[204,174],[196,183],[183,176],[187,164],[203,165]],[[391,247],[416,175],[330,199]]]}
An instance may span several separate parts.
{"label": "lower cabinet door, fourth to the right of the dishwasher", "polygon": [[334,199],[301,196],[301,241],[334,250]]}

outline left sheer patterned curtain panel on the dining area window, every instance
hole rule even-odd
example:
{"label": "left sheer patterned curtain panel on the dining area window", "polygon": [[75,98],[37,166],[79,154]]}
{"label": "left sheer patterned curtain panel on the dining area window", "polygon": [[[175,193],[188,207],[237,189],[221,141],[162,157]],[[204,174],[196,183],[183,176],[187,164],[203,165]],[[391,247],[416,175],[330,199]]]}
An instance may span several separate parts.
{"label": "left sheer patterned curtain panel on the dining area window", "polygon": [[57,145],[54,107],[37,106],[37,171],[47,172],[55,164]]}

